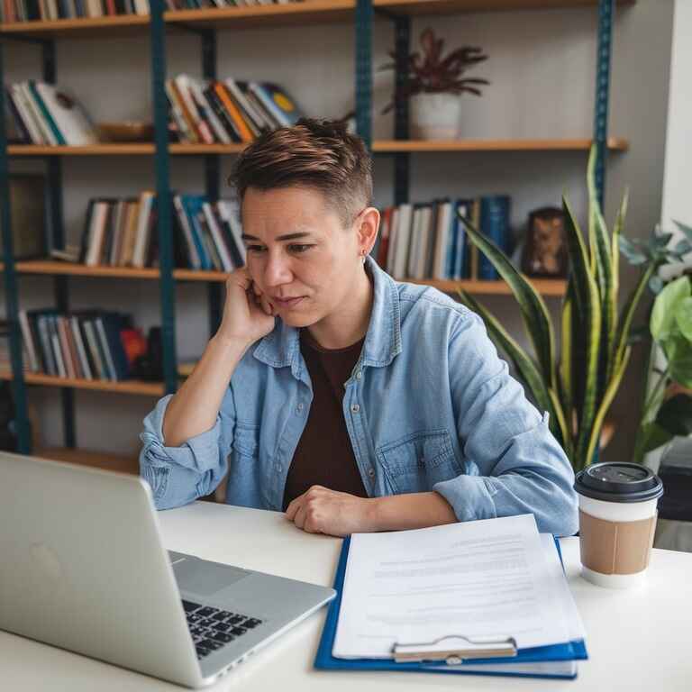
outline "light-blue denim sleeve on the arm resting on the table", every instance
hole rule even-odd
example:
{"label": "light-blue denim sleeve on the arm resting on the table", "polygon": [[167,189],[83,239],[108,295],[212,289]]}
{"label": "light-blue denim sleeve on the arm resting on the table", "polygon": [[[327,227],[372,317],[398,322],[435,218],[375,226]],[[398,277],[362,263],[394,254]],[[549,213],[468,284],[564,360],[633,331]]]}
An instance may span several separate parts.
{"label": "light-blue denim sleeve on the arm resting on the table", "polygon": [[450,341],[451,392],[464,454],[478,475],[435,484],[460,521],[533,514],[538,529],[560,536],[578,530],[574,471],[548,427],[497,356],[476,314]]}

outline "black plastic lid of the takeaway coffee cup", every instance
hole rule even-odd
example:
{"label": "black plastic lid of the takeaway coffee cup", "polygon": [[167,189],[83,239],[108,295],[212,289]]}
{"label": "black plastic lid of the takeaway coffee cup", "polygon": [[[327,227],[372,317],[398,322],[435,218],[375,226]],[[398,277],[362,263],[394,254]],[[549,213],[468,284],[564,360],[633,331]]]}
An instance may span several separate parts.
{"label": "black plastic lid of the takeaway coffee cup", "polygon": [[663,495],[663,483],[651,469],[624,461],[587,466],[578,472],[574,489],[605,502],[644,502]]}

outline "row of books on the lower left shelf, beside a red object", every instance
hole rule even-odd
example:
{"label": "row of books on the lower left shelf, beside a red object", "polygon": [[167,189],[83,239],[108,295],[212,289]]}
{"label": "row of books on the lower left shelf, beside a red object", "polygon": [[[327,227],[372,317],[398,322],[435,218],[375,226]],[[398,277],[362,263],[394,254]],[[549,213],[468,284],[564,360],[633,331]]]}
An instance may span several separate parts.
{"label": "row of books on the lower left shelf, beside a red object", "polygon": [[22,310],[19,323],[32,372],[115,382],[130,378],[134,360],[146,351],[146,341],[128,314]]}

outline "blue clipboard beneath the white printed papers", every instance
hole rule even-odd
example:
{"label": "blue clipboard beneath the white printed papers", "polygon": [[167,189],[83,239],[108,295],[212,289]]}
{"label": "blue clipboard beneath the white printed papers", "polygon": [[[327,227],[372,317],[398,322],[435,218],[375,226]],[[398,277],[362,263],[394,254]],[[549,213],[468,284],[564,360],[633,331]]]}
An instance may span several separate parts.
{"label": "blue clipboard beneath the white printed papers", "polygon": [[[562,553],[560,543],[553,537],[555,549],[560,556],[562,563]],[[448,665],[439,662],[396,662],[388,659],[337,659],[332,656],[334,637],[336,636],[336,624],[339,620],[341,610],[341,595],[343,592],[343,580],[346,574],[346,562],[349,557],[349,547],[351,537],[346,537],[341,546],[339,564],[336,568],[334,577],[334,589],[336,597],[329,605],[327,617],[324,621],[322,638],[314,659],[314,668],[323,670],[398,670],[428,673],[451,673],[457,675],[499,675],[521,678],[560,678],[574,679],[577,677],[576,669],[574,672],[526,672],[522,669],[522,664],[531,663],[550,663],[558,661],[587,660],[587,647],[583,639],[563,644],[553,644],[551,646],[537,646],[529,649],[519,649],[516,656],[512,659],[474,659],[462,661],[457,665]],[[564,564],[563,568],[564,569]],[[487,666],[487,670],[482,668]],[[472,669],[471,669],[472,667]],[[515,668],[514,670],[512,668]],[[504,670],[498,668],[506,668]]]}

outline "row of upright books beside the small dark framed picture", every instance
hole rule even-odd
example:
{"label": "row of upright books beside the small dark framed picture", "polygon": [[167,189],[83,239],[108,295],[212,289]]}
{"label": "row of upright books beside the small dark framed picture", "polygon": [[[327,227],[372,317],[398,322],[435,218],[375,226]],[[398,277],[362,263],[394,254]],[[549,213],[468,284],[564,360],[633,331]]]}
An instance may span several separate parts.
{"label": "row of upright books beside the small dark framed picture", "polygon": [[496,269],[469,242],[460,215],[511,251],[510,198],[436,199],[387,207],[375,250],[378,264],[395,278],[496,280]]}

